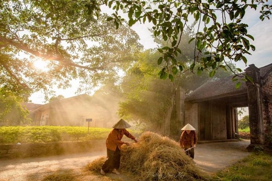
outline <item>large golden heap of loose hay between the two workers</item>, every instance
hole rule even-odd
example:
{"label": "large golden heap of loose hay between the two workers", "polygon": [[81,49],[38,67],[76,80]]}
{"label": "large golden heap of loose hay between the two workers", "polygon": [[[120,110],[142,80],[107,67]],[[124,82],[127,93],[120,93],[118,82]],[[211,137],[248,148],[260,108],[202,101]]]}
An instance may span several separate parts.
{"label": "large golden heap of loose hay between the two workers", "polygon": [[[123,145],[121,153],[120,169],[132,174],[134,180],[207,180],[179,144],[168,137],[145,132],[138,143]],[[104,160],[94,160],[96,164],[90,163],[89,169],[99,171]]]}

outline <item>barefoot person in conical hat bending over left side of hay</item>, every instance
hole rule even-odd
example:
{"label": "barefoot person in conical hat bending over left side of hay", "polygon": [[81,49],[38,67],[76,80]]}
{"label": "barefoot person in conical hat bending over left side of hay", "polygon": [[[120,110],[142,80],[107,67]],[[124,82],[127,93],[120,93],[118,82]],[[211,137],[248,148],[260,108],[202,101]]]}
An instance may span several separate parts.
{"label": "barefoot person in conical hat bending over left side of hay", "polygon": [[120,150],[122,144],[129,145],[127,142],[121,141],[123,135],[128,138],[131,138],[135,142],[137,140],[134,136],[132,136],[125,128],[129,128],[130,125],[125,122],[123,119],[120,119],[115,125],[112,126],[114,129],[111,130],[109,133],[107,140],[106,140],[106,147],[107,147],[107,159],[102,165],[100,173],[105,175],[107,172],[111,171],[116,174],[120,174],[117,170],[120,167]]}

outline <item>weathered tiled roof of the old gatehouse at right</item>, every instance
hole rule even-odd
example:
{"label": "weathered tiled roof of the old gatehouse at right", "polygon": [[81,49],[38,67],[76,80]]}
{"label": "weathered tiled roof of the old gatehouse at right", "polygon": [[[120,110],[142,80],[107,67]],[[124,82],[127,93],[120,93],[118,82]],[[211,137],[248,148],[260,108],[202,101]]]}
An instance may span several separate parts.
{"label": "weathered tiled roof of the old gatehouse at right", "polygon": [[[272,64],[266,65],[259,69],[260,76],[264,77],[269,71],[272,71]],[[185,98],[185,101],[212,100],[219,97],[230,97],[234,95],[246,94],[247,87],[245,81],[241,81],[240,88],[236,89],[236,82],[232,81],[232,77],[233,75],[202,84],[192,93],[190,93]]]}

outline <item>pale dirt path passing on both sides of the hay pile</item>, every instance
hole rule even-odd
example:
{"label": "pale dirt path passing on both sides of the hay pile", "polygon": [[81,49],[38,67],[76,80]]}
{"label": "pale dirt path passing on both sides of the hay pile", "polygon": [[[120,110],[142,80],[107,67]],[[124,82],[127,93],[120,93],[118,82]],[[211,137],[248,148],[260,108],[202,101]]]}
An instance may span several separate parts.
{"label": "pale dirt path passing on both sides of the hay pile", "polygon": [[[198,144],[195,148],[196,166],[206,172],[217,172],[249,155],[249,141],[216,142]],[[92,152],[41,158],[25,158],[0,161],[1,181],[45,180],[46,175],[69,173],[67,180],[128,180],[125,175],[89,175],[85,170],[88,162],[105,156],[106,152]],[[107,178],[108,177],[108,178]]]}

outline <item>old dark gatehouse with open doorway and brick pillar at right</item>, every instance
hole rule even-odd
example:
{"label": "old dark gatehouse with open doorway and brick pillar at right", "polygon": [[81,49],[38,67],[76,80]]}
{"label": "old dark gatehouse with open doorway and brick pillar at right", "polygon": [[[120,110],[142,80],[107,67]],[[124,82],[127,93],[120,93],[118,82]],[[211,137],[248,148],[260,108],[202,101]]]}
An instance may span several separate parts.
{"label": "old dark gatehouse with open doorway and brick pillar at right", "polygon": [[[193,125],[199,140],[235,139],[238,133],[238,107],[248,107],[250,145],[270,144],[272,120],[272,64],[245,69],[253,79],[235,88],[232,76],[210,81],[184,99],[184,122]],[[184,97],[183,97],[184,98]]]}

